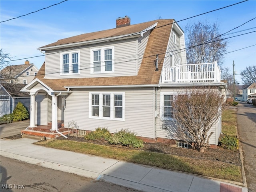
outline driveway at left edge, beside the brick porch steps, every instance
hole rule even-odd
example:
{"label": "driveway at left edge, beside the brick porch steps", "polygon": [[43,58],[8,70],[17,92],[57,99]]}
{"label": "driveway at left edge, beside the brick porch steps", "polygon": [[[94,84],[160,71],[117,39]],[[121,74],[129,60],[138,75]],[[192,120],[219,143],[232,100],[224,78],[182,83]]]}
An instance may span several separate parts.
{"label": "driveway at left edge, beside the brick porch steps", "polygon": [[29,124],[30,120],[2,124],[0,125],[0,138],[20,134],[20,130],[26,129]]}

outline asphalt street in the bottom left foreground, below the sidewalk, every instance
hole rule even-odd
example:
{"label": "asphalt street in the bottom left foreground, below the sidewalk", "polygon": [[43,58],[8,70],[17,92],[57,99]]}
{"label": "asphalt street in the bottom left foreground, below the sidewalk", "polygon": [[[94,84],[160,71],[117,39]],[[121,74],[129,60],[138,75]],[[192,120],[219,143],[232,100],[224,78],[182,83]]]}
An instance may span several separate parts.
{"label": "asphalt street in the bottom left foreground, below the sidewalk", "polygon": [[139,192],[137,190],[1,157],[1,192]]}

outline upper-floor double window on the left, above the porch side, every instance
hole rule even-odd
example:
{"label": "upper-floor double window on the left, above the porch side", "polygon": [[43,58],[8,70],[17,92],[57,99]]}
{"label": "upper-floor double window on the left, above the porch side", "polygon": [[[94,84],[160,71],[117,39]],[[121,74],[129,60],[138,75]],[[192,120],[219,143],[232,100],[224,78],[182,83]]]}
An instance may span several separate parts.
{"label": "upper-floor double window on the left, above the porch side", "polygon": [[80,74],[80,52],[61,53],[61,74]]}

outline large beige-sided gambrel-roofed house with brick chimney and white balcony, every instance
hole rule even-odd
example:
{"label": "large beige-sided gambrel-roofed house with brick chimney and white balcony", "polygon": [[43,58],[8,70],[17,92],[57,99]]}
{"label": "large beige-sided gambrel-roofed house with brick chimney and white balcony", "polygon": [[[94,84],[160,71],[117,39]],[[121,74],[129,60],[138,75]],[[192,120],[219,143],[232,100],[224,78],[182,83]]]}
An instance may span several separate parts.
{"label": "large beige-sided gambrel-roofed house with brick chimney and white balcony", "polygon": [[[130,25],[81,34],[38,48],[46,60],[22,91],[31,96],[30,128],[57,122],[79,130],[106,127],[115,133],[134,131],[144,141],[180,140],[173,122],[172,99],[178,90],[213,86],[225,93],[217,62],[186,64],[184,32],[175,20]],[[171,123],[170,123],[171,124]],[[211,131],[217,145],[221,119]],[[24,130],[24,134],[33,134]]]}

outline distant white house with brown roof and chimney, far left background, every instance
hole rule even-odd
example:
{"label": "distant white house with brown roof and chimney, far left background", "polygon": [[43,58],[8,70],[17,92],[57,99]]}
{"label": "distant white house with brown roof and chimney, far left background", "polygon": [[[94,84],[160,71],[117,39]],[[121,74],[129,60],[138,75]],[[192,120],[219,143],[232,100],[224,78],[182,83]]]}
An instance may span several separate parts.
{"label": "distant white house with brown roof and chimney, far left background", "polygon": [[25,64],[22,65],[7,66],[0,71],[0,77],[1,82],[28,84],[34,79],[37,73],[38,68],[26,60]]}

